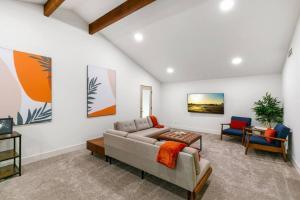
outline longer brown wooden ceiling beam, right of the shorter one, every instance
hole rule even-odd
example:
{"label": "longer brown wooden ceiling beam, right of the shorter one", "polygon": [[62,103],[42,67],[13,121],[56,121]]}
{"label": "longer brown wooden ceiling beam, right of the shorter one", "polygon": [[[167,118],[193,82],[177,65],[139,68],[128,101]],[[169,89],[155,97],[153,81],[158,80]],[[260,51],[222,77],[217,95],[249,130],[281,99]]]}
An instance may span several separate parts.
{"label": "longer brown wooden ceiling beam, right of the shorter one", "polygon": [[104,16],[89,24],[89,33],[94,34],[105,27],[119,21],[131,13],[147,6],[155,0],[127,0]]}

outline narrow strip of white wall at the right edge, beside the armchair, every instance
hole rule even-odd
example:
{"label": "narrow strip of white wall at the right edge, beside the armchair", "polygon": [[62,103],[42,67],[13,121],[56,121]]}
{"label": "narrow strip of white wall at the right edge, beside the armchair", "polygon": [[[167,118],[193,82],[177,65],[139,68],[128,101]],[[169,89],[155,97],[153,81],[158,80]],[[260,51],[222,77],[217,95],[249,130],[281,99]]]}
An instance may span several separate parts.
{"label": "narrow strip of white wall at the right edge, beside the armchair", "polygon": [[293,55],[283,69],[283,97],[285,124],[292,129],[292,156],[300,169],[300,19],[291,44]]}

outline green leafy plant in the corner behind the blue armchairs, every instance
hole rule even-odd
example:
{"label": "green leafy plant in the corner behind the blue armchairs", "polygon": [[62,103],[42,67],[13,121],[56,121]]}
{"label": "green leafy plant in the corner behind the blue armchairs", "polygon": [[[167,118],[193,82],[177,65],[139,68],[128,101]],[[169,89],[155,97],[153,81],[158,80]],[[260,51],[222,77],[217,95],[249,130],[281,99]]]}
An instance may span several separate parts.
{"label": "green leafy plant in the corner behind the blue armchairs", "polygon": [[278,98],[272,97],[270,93],[259,101],[254,103],[253,111],[256,114],[256,120],[269,128],[272,127],[272,123],[283,122],[283,107]]}

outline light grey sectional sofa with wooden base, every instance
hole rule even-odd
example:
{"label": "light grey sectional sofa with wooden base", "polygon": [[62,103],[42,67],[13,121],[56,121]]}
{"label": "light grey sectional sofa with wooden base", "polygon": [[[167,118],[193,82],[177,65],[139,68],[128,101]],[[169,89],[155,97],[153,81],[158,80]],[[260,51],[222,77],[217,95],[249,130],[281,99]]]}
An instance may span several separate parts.
{"label": "light grey sectional sofa with wooden base", "polygon": [[115,129],[104,133],[105,155],[120,160],[188,191],[188,199],[193,199],[201,190],[212,172],[210,162],[199,160],[198,150],[186,147],[179,153],[175,169],[170,169],[156,161],[156,156],[164,141],[155,139],[170,131],[169,128],[153,128],[149,118],[116,122]]}

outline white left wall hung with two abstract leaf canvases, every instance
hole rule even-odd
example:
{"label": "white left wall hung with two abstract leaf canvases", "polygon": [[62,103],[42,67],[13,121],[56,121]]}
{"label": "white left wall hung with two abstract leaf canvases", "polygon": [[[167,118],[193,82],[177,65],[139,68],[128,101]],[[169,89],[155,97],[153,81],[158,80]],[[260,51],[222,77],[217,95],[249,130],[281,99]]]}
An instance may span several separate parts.
{"label": "white left wall hung with two abstract leaf canvases", "polygon": [[[15,128],[23,134],[24,157],[83,144],[116,120],[139,117],[141,84],[153,87],[153,111],[158,115],[160,83],[101,36],[44,17],[41,6],[7,0],[0,1],[0,27],[1,47],[53,61],[53,120]],[[87,119],[88,64],[117,71],[116,116]]]}

